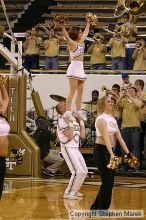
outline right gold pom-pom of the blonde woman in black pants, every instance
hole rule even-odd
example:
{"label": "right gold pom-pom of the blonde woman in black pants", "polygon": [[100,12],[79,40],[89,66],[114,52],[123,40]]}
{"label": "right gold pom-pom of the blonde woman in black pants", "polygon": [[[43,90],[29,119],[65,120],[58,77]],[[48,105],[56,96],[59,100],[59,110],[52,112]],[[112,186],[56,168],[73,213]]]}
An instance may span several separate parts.
{"label": "right gold pom-pom of the blonde woman in black pants", "polygon": [[124,163],[128,163],[131,168],[137,168],[140,166],[137,157],[133,153],[128,153],[124,156]]}

